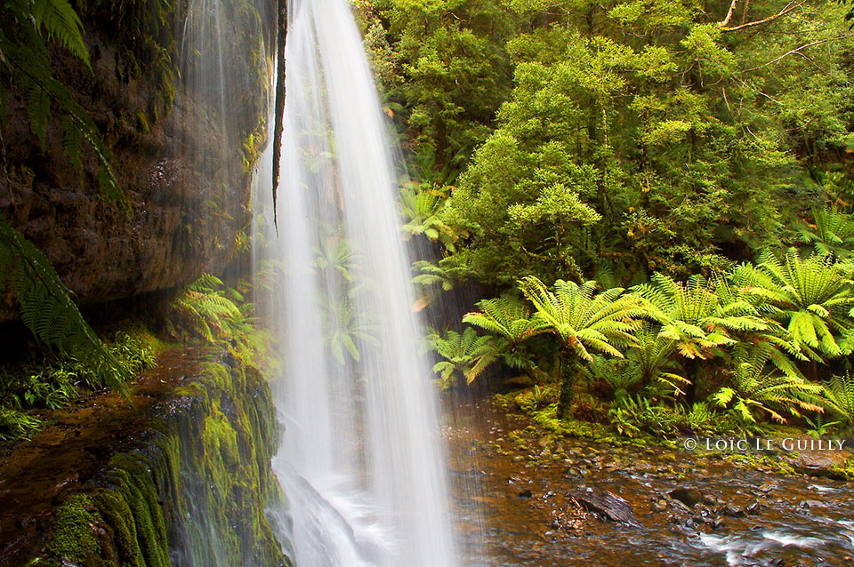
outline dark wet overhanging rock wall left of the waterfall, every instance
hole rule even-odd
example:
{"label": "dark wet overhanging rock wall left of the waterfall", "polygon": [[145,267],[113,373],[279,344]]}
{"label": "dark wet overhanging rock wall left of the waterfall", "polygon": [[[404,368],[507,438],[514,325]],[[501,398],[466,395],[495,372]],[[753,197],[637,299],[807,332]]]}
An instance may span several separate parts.
{"label": "dark wet overhanging rock wall left of the waterfall", "polygon": [[[238,249],[250,220],[251,169],[244,160],[253,156],[244,147],[253,133],[255,145],[263,143],[266,77],[259,20],[241,0],[226,4],[240,14],[227,30],[235,52],[225,58],[226,72],[238,79],[230,92],[239,97],[228,100],[227,120],[218,114],[219,102],[205,100],[205,92],[181,78],[170,104],[156,78],[129,74],[127,48],[116,44],[114,29],[99,28],[103,22],[86,22],[92,72],[61,50],[54,53],[58,78],[113,153],[127,214],[102,198],[98,162],[85,144],[82,171],[68,163],[60,113],[42,148],[30,127],[26,93],[12,92],[2,132],[0,215],[44,252],[81,304],[188,284],[204,271],[221,272]],[[0,303],[0,321],[13,316]]]}

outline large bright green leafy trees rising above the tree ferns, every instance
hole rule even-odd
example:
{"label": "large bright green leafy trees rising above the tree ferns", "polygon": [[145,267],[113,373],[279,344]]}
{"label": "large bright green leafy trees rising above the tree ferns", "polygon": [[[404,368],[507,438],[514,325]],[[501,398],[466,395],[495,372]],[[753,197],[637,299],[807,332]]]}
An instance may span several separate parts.
{"label": "large bright green leafy trees rising above the tree ferns", "polygon": [[511,97],[442,212],[471,235],[457,266],[498,285],[709,274],[823,203],[805,166],[852,140],[841,8],[576,4],[507,46]]}

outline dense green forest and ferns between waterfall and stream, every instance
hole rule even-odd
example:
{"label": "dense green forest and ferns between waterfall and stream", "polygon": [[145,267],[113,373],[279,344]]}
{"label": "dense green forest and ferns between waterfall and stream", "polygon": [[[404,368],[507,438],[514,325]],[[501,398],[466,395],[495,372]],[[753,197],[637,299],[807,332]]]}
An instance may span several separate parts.
{"label": "dense green forest and ferns between waterfall and stream", "polygon": [[522,372],[624,435],[850,424],[849,6],[357,4],[415,307],[500,296],[431,336],[446,387]]}

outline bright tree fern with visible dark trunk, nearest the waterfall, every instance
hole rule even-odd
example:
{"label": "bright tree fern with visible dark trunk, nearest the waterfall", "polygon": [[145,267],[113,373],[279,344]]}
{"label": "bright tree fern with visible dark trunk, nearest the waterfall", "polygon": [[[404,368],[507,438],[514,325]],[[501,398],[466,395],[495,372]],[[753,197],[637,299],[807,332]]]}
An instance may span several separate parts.
{"label": "bright tree fern with visible dark trunk, nearest the waterfall", "polygon": [[636,297],[624,295],[622,288],[596,293],[597,284],[592,280],[581,285],[558,280],[552,291],[536,276],[527,276],[520,280],[519,288],[536,308],[537,324],[560,339],[563,354],[575,367],[561,377],[559,412],[566,416],[577,365],[590,363],[591,351],[623,358],[622,349],[635,343],[633,333],[645,310]]}

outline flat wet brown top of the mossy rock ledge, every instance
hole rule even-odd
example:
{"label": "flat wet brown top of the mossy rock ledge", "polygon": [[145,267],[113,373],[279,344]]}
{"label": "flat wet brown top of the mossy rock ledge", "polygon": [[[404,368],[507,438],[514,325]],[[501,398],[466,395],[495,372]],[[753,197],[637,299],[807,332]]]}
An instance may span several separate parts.
{"label": "flat wet brown top of the mossy rock ledge", "polygon": [[2,447],[0,565],[22,564],[64,500],[100,475],[117,452],[144,443],[145,424],[171,411],[169,394],[193,375],[196,358],[192,350],[168,351],[133,384],[130,400],[117,392],[86,396],[54,411],[31,440]]}

